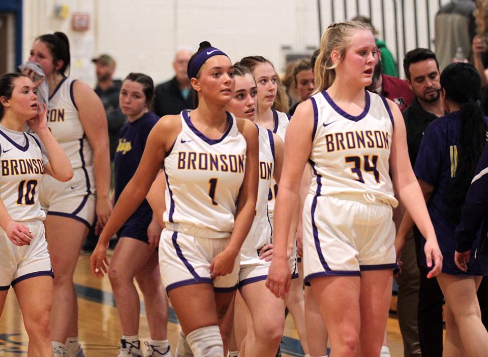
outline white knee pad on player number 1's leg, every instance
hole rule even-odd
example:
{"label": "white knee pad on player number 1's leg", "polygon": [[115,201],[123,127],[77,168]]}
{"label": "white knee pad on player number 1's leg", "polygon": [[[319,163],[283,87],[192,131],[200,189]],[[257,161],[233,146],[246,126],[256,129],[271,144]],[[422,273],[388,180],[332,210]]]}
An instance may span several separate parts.
{"label": "white knee pad on player number 1's leg", "polygon": [[224,345],[217,325],[190,332],[187,341],[195,357],[224,357]]}

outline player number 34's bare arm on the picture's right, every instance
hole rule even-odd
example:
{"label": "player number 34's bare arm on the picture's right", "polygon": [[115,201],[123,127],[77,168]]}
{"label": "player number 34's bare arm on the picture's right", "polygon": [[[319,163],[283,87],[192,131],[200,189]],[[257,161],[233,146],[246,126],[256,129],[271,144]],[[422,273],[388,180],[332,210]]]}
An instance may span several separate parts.
{"label": "player number 34's bare arm on the picture's right", "polygon": [[395,124],[390,152],[393,185],[399,194],[400,200],[404,203],[405,209],[427,241],[425,244],[427,266],[430,268],[432,260],[435,262],[434,269],[428,275],[432,277],[437,275],[442,269],[442,254],[437,244],[436,233],[425,205],[425,199],[408,157],[407,134],[402,113],[391,100],[388,100],[388,104]]}

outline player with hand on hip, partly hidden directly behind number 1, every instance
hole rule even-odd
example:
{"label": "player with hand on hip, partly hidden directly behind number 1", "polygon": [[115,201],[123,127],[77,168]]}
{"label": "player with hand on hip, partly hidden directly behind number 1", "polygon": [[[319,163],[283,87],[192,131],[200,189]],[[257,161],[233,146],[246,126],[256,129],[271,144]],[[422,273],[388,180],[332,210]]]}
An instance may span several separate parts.
{"label": "player with hand on hip, partly hidden directly behind number 1", "polygon": [[[227,109],[240,118],[256,122],[257,85],[251,72],[239,63],[234,64],[235,88]],[[277,299],[265,287],[272,245],[272,226],[268,216],[268,191],[273,177],[279,181],[283,163],[283,141],[271,130],[259,127],[259,187],[253,226],[240,252],[239,292],[247,307],[236,303],[234,320],[248,323],[245,339],[236,334],[240,356],[276,355],[285,325],[284,301]],[[294,235],[291,236],[294,239]],[[294,268],[294,264],[292,266]],[[237,299],[237,298],[236,298]],[[250,311],[251,316],[245,313]],[[242,311],[244,310],[244,311]],[[238,329],[237,329],[238,330]],[[242,340],[244,341],[242,344]],[[229,356],[237,352],[229,352]]]}

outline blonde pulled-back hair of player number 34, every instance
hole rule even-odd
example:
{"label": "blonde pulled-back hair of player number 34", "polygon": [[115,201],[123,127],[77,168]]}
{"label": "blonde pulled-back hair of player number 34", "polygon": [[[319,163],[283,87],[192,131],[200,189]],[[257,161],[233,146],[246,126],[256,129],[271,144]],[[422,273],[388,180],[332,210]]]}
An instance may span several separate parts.
{"label": "blonde pulled-back hair of player number 34", "polygon": [[[346,55],[346,50],[351,44],[352,33],[356,30],[367,30],[373,33],[373,28],[359,21],[345,21],[332,23],[322,34],[320,40],[320,53],[315,62],[315,93],[329,88],[335,79],[335,67],[339,65]],[[332,51],[339,51],[340,57],[337,63],[332,62]]]}

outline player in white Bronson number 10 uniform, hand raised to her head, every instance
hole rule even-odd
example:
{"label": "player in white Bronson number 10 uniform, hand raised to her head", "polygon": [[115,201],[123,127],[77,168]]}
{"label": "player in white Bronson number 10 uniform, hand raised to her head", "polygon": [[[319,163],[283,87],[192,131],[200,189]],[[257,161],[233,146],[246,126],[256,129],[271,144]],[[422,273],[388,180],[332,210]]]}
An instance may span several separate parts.
{"label": "player in white Bronson number 10 uniform, hand raised to her head", "polygon": [[[25,124],[35,134],[25,133]],[[41,144],[42,143],[42,144]],[[0,78],[0,315],[10,285],[29,336],[29,357],[53,355],[49,326],[52,269],[39,203],[47,173],[67,182],[70,161],[47,127],[36,88],[20,74]]]}

